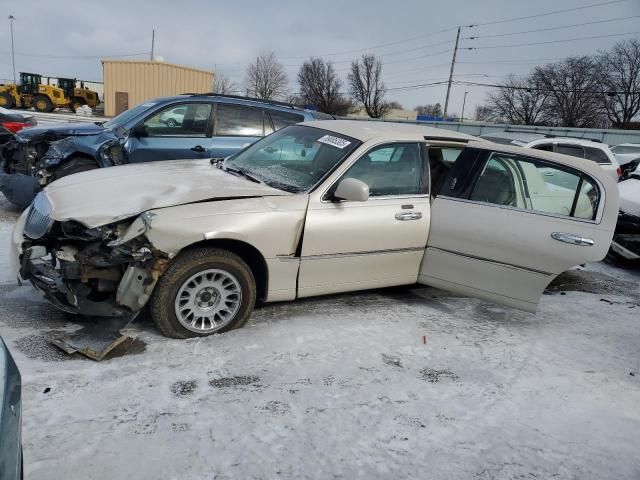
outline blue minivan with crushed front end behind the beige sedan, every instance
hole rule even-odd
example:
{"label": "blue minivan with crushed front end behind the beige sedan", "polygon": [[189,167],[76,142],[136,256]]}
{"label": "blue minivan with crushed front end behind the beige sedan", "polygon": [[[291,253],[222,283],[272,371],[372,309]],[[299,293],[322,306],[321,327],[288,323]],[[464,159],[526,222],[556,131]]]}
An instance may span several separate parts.
{"label": "blue minivan with crushed front end behind the beige sedan", "polygon": [[287,125],[330,115],[270,100],[185,94],[157,98],[104,123],[24,129],[0,147],[0,191],[27,206],[49,182],[101,167],[224,158]]}

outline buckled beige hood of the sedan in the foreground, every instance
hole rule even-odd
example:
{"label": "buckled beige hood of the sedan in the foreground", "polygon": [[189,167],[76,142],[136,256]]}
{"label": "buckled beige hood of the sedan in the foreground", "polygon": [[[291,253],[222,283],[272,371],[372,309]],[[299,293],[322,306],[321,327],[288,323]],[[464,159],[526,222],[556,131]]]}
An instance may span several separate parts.
{"label": "buckled beige hood of the sedan in the foreground", "polygon": [[209,160],[171,160],[100,168],[56,180],[44,190],[57,221],[89,228],[147,210],[187,203],[292,195],[237,177]]}

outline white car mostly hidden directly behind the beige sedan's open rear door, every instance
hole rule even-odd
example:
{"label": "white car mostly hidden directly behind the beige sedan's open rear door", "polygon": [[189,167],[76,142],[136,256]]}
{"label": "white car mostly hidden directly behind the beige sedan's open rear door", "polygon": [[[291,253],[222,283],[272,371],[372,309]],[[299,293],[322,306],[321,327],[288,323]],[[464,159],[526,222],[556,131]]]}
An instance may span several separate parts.
{"label": "white car mostly hidden directly behind the beige sedan's open rear door", "polygon": [[534,140],[524,145],[525,148],[562,153],[572,157],[592,160],[609,172],[616,182],[622,173],[615,155],[604,143],[571,137],[549,137]]}

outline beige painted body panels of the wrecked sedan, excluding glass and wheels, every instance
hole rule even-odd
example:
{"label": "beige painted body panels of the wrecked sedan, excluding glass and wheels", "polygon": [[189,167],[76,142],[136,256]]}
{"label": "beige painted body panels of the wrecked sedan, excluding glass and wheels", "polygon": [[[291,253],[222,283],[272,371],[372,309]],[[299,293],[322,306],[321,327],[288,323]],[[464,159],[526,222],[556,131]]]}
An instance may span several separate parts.
{"label": "beige painted body panels of the wrecked sedan, excluding glass and wheels", "polygon": [[[425,142],[427,138],[431,143],[459,140],[476,148],[520,155],[523,150],[415,125],[360,121],[308,125],[363,142],[310,194],[254,184],[206,160],[156,162],[100,169],[54,182],[45,190],[53,204],[53,218],[94,227],[150,211],[153,215],[146,236],[169,257],[206,240],[245,242],[262,254],[268,266],[267,301],[418,280],[531,311],[542,289],[560,271],[606,254],[617,218],[617,188],[595,163],[543,151],[526,152],[597,179],[606,194],[596,222],[444,196],[433,205],[427,195],[334,203],[324,198],[327,190],[376,145]],[[212,200],[207,201],[209,198]],[[421,216],[407,222],[397,220],[395,215],[405,211]],[[23,225],[18,222],[14,233],[16,251]],[[301,256],[297,257],[303,229]],[[560,244],[549,236],[556,230],[593,238],[596,245]],[[532,248],[548,248],[549,254],[531,255]],[[487,261],[492,255],[499,261]]]}

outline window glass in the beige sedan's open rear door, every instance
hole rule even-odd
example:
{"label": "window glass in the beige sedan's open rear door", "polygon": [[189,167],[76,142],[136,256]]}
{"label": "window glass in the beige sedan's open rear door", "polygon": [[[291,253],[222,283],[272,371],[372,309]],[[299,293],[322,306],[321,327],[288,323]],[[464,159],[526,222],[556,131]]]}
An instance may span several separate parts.
{"label": "window glass in the beige sedan's open rear door", "polygon": [[583,174],[552,163],[494,153],[470,200],[541,213],[594,219],[600,195]]}

